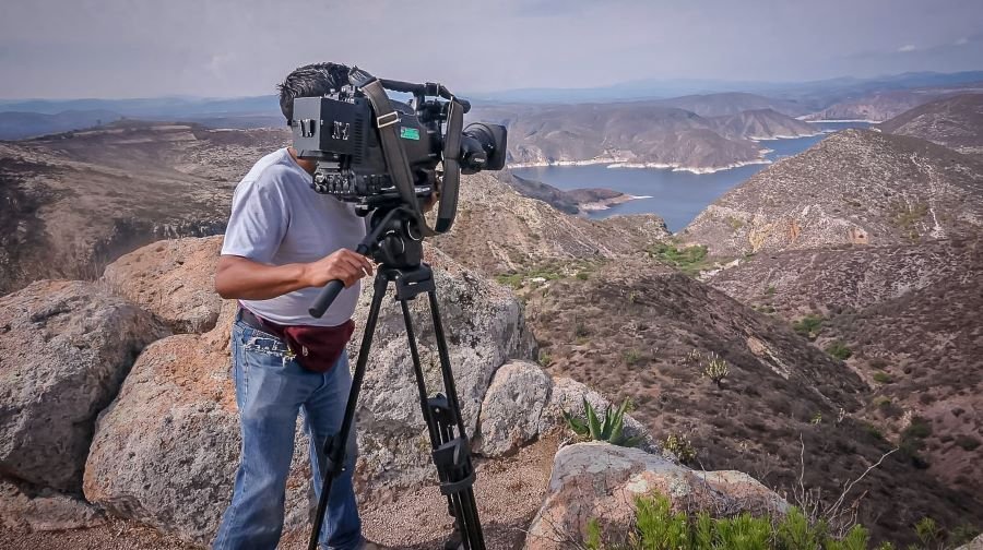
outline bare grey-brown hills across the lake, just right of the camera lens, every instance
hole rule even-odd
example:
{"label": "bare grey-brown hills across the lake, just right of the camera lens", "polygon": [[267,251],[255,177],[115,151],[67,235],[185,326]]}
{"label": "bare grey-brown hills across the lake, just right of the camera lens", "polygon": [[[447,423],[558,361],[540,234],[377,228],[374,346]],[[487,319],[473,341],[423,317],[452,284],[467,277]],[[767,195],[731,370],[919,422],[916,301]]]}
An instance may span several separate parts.
{"label": "bare grey-brown hills across the lake, just right of the camera lens", "polygon": [[[715,96],[703,96],[715,104]],[[762,98],[765,99],[765,98]],[[512,166],[609,164],[714,171],[766,163],[751,140],[813,135],[771,109],[701,117],[661,101],[476,107],[474,119],[509,128]]]}

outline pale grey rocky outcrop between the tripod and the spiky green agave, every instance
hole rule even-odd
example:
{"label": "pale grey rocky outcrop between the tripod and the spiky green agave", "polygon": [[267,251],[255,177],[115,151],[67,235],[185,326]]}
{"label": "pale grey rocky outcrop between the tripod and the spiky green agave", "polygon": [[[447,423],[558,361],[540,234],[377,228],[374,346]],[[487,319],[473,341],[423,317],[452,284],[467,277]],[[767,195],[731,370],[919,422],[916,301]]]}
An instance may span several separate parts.
{"label": "pale grey rocky outcrop between the tripod and the spiky green agave", "polygon": [[[583,417],[583,400],[603,411],[616,407],[600,393],[559,376],[552,379],[530,361],[511,361],[495,373],[482,403],[474,451],[488,457],[514,454],[538,437],[564,426],[562,412]],[[625,416],[625,434],[647,438],[644,427]],[[646,445],[650,445],[647,441]]]}

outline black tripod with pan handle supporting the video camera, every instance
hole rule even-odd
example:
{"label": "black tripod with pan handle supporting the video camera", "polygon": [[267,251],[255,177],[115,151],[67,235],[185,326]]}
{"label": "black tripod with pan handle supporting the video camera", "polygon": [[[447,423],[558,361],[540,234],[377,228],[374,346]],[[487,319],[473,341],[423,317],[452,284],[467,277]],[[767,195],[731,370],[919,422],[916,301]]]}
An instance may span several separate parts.
{"label": "black tripod with pan handle supporting the video camera", "polygon": [[[355,407],[358,403],[358,394],[365,378],[372,335],[379,320],[382,299],[390,283],[395,286],[395,298],[400,302],[400,308],[403,312],[406,339],[410,344],[410,355],[413,358],[413,371],[416,376],[416,387],[419,392],[419,405],[430,437],[431,456],[434,464],[437,466],[440,492],[447,497],[448,513],[454,517],[454,534],[445,545],[445,548],[448,550],[485,549],[477,505],[474,501],[474,490],[472,489],[475,478],[474,466],[471,462],[471,449],[464,429],[464,420],[461,417],[461,406],[458,402],[453,372],[450,368],[447,340],[443,336],[443,324],[440,320],[440,311],[437,304],[434,272],[429,265],[423,263],[423,242],[413,239],[408,219],[408,211],[403,208],[375,211],[371,217],[372,229],[357,249],[362,254],[367,255],[371,253],[372,258],[381,265],[377,270],[376,278],[372,283],[371,304],[369,306],[362,345],[358,349],[355,372],[352,375],[352,390],[348,394],[348,402],[345,405],[345,416],[339,432],[330,438],[324,445],[324,454],[327,456],[324,481],[321,487],[320,499],[318,500],[308,550],[317,550],[318,548],[318,538],[328,507],[328,495],[331,493],[334,478],[341,475],[344,469],[345,442],[348,440],[348,434],[355,420]],[[344,286],[340,280],[329,283],[313,307],[311,307],[310,314],[320,318],[342,288]],[[433,397],[427,395],[416,345],[416,335],[413,331],[413,320],[410,315],[410,300],[422,294],[427,295],[430,306],[437,350],[440,356],[440,373],[446,392],[445,394],[438,393]]]}

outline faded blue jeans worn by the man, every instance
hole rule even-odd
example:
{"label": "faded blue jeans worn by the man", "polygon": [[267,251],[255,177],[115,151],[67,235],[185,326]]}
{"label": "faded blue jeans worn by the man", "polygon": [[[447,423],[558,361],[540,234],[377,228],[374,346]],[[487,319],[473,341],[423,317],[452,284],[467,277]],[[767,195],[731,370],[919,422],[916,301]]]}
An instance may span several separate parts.
{"label": "faded blue jeans worn by the man", "polygon": [[[232,503],[213,548],[273,550],[283,530],[284,500],[297,414],[310,438],[311,482],[318,498],[324,467],[324,441],[341,429],[352,374],[345,354],[327,373],[305,370],[280,338],[244,324],[232,331],[233,375],[242,449]],[[362,542],[352,473],[355,430],[348,439],[344,473],[335,478],[321,530],[322,548],[354,550]]]}

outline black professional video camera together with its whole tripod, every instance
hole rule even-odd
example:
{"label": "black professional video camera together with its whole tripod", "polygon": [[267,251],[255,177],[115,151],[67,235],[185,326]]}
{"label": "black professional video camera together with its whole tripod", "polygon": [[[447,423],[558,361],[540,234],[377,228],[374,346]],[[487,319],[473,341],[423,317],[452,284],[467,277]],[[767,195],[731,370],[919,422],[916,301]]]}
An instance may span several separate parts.
{"label": "black professional video camera together with its whole tripod", "polygon": [[[471,106],[440,84],[379,80],[357,68],[347,72],[347,84],[323,97],[295,99],[291,120],[294,148],[301,158],[317,160],[311,179],[313,190],[353,202],[358,214],[370,215],[369,230],[357,251],[380,264],[342,426],[324,447],[327,471],[308,549],[318,547],[331,485],[345,464],[345,442],[353,428],[372,335],[382,299],[392,283],[403,311],[440,492],[447,497],[448,512],[454,517],[454,535],[445,548],[484,550],[472,488],[475,471],[470,439],[454,387],[434,273],[423,261],[423,238],[445,232],[453,224],[462,171],[474,174],[505,167],[506,129],[484,123],[462,129],[464,113]],[[413,94],[413,103],[392,101],[386,89]],[[441,132],[441,127],[446,131]],[[442,171],[437,170],[438,165],[442,165]],[[430,228],[421,204],[431,199],[438,182],[440,202]],[[310,314],[323,315],[342,288],[341,280],[328,283]],[[443,383],[443,392],[436,395],[427,391],[408,304],[424,294],[429,302]]]}

